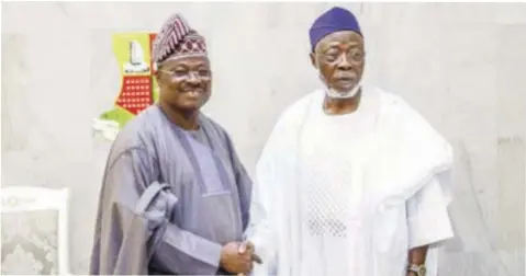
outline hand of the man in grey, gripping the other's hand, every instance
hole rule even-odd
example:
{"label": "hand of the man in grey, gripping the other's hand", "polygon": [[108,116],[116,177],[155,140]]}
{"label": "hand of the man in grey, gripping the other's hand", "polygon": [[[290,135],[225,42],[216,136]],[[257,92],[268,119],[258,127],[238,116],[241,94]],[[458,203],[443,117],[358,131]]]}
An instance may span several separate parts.
{"label": "hand of the man in grey, gripping the other's hand", "polygon": [[239,253],[240,242],[230,242],[221,250],[220,266],[236,274],[248,274],[253,269],[251,254]]}

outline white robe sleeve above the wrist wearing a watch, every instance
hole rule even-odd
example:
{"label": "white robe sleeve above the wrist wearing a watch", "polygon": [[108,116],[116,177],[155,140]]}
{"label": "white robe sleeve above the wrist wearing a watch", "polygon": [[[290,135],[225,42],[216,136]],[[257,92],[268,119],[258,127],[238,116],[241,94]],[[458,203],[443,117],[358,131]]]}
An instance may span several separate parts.
{"label": "white robe sleeve above the wrist wearing a watch", "polygon": [[428,276],[438,274],[438,253],[441,242],[454,237],[448,214],[451,171],[435,175],[427,185],[407,200],[410,249],[428,245]]}

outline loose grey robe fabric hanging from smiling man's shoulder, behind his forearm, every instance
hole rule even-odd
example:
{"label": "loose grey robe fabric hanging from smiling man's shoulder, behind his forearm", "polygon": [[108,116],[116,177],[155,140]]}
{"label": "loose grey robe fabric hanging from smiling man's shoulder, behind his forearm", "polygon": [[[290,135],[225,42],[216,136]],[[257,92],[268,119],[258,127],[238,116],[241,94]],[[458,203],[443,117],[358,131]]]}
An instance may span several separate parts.
{"label": "loose grey robe fabric hanging from smiling man's shoulder, behind his forearm", "polygon": [[142,216],[137,209],[144,205],[144,183],[155,179],[154,162],[144,148],[112,149],[99,200],[90,274],[148,274],[153,249],[146,244],[152,244],[163,216],[156,211]]}

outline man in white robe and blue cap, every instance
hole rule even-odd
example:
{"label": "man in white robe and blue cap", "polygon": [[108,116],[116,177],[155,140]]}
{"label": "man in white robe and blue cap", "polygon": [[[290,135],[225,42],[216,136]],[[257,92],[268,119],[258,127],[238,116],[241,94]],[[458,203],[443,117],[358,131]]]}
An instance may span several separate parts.
{"label": "man in white robe and blue cap", "polygon": [[361,85],[349,11],[321,15],[310,38],[325,88],[286,110],[258,161],[254,275],[437,275],[454,235],[450,145],[400,96]]}

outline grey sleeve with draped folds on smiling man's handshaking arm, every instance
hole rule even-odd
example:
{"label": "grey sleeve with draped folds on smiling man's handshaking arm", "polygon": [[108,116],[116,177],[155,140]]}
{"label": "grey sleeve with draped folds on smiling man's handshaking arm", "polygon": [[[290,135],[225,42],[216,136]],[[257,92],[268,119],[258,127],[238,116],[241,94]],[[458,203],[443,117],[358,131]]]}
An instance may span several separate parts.
{"label": "grey sleeve with draped folds on smiling man's handshaking arm", "polygon": [[148,274],[152,263],[171,274],[213,275],[221,245],[167,220],[178,198],[156,183],[145,149],[110,158],[99,204],[91,274]]}

